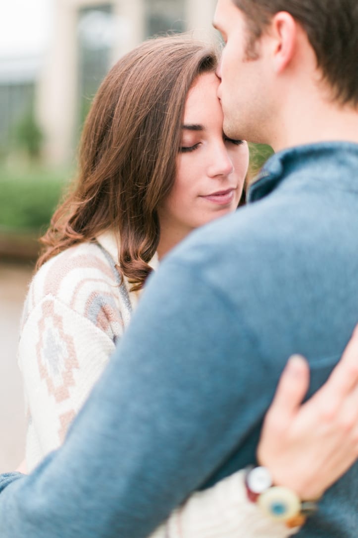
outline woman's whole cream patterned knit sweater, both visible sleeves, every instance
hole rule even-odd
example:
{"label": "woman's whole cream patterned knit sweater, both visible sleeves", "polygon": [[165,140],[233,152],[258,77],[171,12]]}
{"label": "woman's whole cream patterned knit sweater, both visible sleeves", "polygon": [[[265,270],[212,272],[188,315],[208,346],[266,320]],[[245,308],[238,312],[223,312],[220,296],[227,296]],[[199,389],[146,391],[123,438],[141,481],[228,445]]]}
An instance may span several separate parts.
{"label": "woman's whole cream patterned knit sweater, both visible sleeves", "polygon": [[[70,247],[35,274],[25,301],[18,360],[28,416],[26,462],[32,470],[59,447],[70,422],[130,322],[140,292],[121,283],[117,241]],[[157,258],[151,261],[157,266]],[[152,538],[281,538],[289,530],[247,500],[244,473],[191,495]],[[292,533],[292,530],[291,530]]]}

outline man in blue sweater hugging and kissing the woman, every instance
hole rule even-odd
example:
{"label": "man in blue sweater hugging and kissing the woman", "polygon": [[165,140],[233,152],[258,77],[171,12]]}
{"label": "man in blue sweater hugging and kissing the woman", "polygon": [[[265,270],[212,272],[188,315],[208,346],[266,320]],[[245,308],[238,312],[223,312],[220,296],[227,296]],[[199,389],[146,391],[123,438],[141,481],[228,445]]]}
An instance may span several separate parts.
{"label": "man in blue sweater hugging and kissing the woman", "polygon": [[[219,0],[214,23],[226,134],[284,151],[254,203],[164,261],[59,452],[3,477],[5,538],[148,535],[192,490],[254,461],[285,359],[303,353],[317,390],[356,323],[356,0]],[[288,474],[299,483],[293,462]],[[301,535],[356,536],[357,481],[355,465]]]}

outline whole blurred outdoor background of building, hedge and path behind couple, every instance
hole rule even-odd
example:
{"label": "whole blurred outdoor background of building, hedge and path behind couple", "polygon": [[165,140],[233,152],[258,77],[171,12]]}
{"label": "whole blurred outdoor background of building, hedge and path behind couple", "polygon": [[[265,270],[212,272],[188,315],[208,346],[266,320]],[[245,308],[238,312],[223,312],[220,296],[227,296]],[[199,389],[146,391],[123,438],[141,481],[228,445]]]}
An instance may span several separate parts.
{"label": "whole blurred outdoor background of building, hedge and path behind couple", "polygon": [[[0,8],[0,472],[24,455],[16,348],[38,237],[71,179],[113,63],[162,32],[211,30],[216,0],[12,0]],[[255,147],[254,166],[271,153]]]}

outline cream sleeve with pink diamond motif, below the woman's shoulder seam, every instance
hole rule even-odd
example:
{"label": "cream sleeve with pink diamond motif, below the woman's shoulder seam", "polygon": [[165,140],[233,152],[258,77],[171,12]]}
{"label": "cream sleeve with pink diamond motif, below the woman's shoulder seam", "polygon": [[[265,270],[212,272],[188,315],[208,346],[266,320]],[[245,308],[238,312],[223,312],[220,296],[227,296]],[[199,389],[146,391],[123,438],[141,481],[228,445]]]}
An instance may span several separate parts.
{"label": "cream sleeve with pink diamond motif, below the woman's shoulder seam", "polygon": [[33,310],[19,342],[28,470],[62,444],[113,351],[104,331],[55,297],[46,295]]}

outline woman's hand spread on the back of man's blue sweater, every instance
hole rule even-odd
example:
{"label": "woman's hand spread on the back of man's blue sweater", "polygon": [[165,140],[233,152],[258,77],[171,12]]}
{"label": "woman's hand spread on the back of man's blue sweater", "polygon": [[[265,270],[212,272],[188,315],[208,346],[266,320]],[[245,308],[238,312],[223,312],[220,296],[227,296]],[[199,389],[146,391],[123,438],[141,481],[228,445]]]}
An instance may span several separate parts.
{"label": "woman's hand spread on the back of man's blue sweater", "polygon": [[358,457],[358,325],[330,378],[304,404],[309,366],[289,359],[264,421],[257,458],[277,485],[320,497]]}

